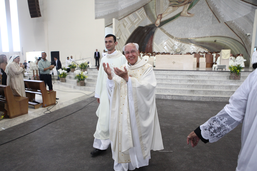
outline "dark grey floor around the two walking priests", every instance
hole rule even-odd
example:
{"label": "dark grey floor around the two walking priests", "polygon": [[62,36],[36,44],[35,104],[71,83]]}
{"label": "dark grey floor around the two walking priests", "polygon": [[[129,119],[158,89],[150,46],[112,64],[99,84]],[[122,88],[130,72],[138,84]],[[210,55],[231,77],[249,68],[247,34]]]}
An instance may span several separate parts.
{"label": "dark grey floor around the two walking priests", "polygon": [[[81,109],[94,97],[0,131],[0,144],[30,133],[43,125]],[[192,148],[187,135],[216,115],[227,102],[156,99],[164,150],[151,151],[149,166],[135,170],[236,169],[241,125],[216,143]],[[59,119],[17,140],[0,146],[0,170],[113,170],[111,148],[91,156],[98,103]]]}

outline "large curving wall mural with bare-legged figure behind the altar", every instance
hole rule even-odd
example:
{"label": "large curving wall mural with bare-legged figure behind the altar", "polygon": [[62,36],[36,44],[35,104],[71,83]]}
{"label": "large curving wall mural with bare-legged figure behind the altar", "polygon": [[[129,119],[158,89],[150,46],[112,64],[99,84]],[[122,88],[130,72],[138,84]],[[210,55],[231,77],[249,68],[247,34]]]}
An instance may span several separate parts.
{"label": "large curving wall mural with bare-legged figure behind the altar", "polygon": [[[106,5],[109,11],[103,10]],[[128,42],[138,43],[144,52],[231,49],[250,64],[254,0],[95,0],[95,6],[95,18],[105,18],[106,27],[117,19],[117,50]]]}

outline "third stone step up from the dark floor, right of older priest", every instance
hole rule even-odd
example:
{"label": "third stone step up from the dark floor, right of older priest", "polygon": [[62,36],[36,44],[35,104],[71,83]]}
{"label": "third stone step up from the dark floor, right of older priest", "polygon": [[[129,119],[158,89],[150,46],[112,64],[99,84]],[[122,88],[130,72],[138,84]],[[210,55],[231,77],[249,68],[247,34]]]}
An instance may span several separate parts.
{"label": "third stone step up from the dark floor, right of older priest", "polygon": [[231,85],[201,85],[201,84],[168,84],[168,83],[158,83],[156,88],[173,88],[173,89],[210,89],[210,90],[234,90],[238,89],[239,85],[231,86]]}

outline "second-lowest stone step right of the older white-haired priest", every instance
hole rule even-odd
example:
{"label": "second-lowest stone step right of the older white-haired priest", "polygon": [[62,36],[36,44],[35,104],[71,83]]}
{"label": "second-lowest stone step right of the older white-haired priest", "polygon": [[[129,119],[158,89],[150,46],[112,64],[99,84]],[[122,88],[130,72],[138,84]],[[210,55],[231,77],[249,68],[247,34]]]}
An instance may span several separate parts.
{"label": "second-lowest stone step right of the older white-haired priest", "polygon": [[231,96],[233,90],[204,90],[204,89],[172,89],[172,88],[156,88],[157,94],[180,94],[180,95],[225,95]]}

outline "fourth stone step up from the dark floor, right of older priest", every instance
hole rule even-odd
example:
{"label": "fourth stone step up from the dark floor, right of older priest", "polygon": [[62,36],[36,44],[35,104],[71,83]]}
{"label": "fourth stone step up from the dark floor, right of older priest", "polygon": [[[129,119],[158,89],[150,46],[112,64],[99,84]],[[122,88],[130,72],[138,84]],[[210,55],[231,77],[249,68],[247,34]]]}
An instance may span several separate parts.
{"label": "fourth stone step up from the dark floor, right of older priest", "polygon": [[183,80],[183,79],[156,79],[158,83],[172,83],[172,84],[200,84],[200,85],[232,85],[240,86],[244,81],[242,80]]}

